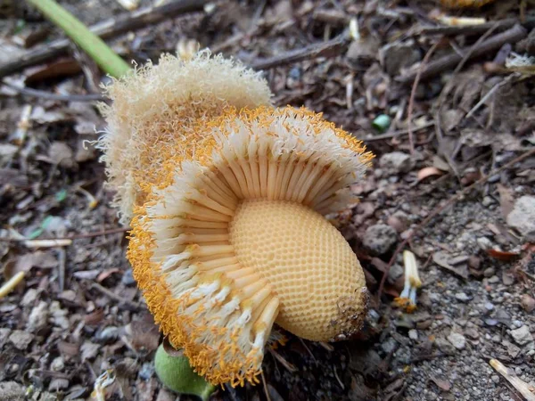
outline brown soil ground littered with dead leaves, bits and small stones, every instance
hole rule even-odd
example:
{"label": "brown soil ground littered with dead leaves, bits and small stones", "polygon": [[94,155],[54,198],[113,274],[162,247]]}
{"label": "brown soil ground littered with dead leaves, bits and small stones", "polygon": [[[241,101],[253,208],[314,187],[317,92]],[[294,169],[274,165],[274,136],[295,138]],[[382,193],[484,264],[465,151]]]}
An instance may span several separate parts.
{"label": "brown soil ground littered with dead leaves, bits and small stones", "polygon": [[[87,24],[125,12],[111,0],[62,4]],[[34,47],[61,37],[25,10],[2,8],[1,62],[21,54],[28,37]],[[332,217],[366,269],[373,295],[366,327],[334,344],[287,334],[286,346],[266,353],[265,385],[219,389],[213,399],[523,399],[490,358],[535,386],[535,157],[468,188],[533,149],[535,37],[527,37],[526,22],[526,39],[471,58],[504,29],[425,33],[444,23],[440,12],[534,17],[529,2],[448,11],[432,1],[229,1],[110,41],[139,63],[188,39],[259,65],[347,35],[350,20],[358,21],[360,38],[319,57],[283,57],[265,74],[276,104],[323,111],[376,154],[366,182],[352,187],[358,206]],[[97,91],[106,78],[74,54],[4,79],[45,93]],[[400,83],[425,69],[424,57],[448,54],[461,60],[414,89],[414,78]],[[25,274],[0,300],[0,400],[87,399],[107,369],[116,380],[106,399],[177,399],[154,374],[161,335],[136,289],[128,240],[91,144],[103,119],[91,102],[29,97],[8,86],[0,96],[1,282]],[[382,115],[391,123],[377,129]],[[65,246],[25,242],[66,237]],[[396,249],[405,240],[423,282],[414,313],[393,302],[404,284]]]}

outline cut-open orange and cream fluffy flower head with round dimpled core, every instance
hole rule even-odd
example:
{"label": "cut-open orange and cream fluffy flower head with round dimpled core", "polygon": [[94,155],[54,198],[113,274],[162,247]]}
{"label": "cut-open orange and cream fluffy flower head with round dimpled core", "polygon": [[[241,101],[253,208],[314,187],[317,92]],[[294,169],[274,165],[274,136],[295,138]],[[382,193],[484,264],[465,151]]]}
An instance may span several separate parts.
{"label": "cut-open orange and cream fluffy flower head with round dimpled core", "polygon": [[[246,104],[219,91],[218,110],[198,102],[193,117],[182,120],[188,96],[147,104],[144,96],[154,100],[161,86],[175,90],[166,68],[180,77],[190,69],[196,79],[191,65],[200,62],[214,75],[223,62],[231,77],[241,76],[243,82],[232,79]],[[258,75],[206,53],[192,61],[166,57],[142,77],[149,88],[137,87],[138,77],[114,84],[111,94],[120,96],[107,110],[111,132],[103,147],[112,184],[128,181],[120,174],[130,177],[128,192],[119,188],[123,216],[133,206],[128,259],[169,341],[210,382],[243,385],[258,382],[275,323],[308,340],[342,340],[358,331],[366,313],[364,274],[325,215],[353,201],[349,186],[372,158],[363,144],[321,114],[274,108]],[[204,78],[196,88],[211,93],[207,88],[225,80]],[[165,134],[162,149],[154,139],[128,139],[123,124],[150,131],[137,138],[152,138],[157,127],[177,131]],[[117,129],[129,141],[121,150]],[[144,157],[128,168],[139,170],[121,173],[127,162],[114,157],[134,144]]]}

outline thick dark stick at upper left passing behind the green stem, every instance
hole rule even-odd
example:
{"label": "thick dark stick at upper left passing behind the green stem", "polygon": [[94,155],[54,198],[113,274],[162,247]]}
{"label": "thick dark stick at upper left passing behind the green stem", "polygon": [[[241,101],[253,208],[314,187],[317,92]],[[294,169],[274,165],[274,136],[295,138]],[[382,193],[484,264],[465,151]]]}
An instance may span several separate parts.
{"label": "thick dark stick at upper left passing behind the green stem", "polygon": [[[179,14],[202,11],[204,5],[208,3],[209,0],[176,0],[159,7],[152,6],[136,12],[127,12],[119,17],[99,22],[89,29],[103,39],[118,37],[128,31],[153,25]],[[58,39],[36,50],[23,53],[17,59],[0,65],[0,78],[61,56],[69,51],[70,45],[70,39]]]}

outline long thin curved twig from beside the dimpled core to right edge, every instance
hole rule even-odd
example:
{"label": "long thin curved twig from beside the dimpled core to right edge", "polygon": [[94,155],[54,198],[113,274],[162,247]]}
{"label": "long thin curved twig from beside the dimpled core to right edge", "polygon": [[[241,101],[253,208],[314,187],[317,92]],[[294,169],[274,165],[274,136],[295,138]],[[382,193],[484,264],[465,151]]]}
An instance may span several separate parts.
{"label": "long thin curved twig from beside the dimpled core to right edge", "polygon": [[531,156],[535,155],[535,149],[531,149],[531,151],[526,151],[524,152],[523,154],[521,154],[519,157],[517,157],[516,159],[514,160],[511,160],[509,161],[508,163],[504,164],[502,167],[500,168],[496,168],[492,171],[490,171],[490,173],[487,175],[487,176],[482,176],[479,180],[477,180],[475,183],[471,184],[471,185],[468,185],[467,187],[465,187],[465,189],[463,189],[462,191],[460,192],[457,192],[455,195],[453,195],[451,198],[449,198],[448,201],[446,201],[442,206],[439,206],[438,208],[434,209],[428,217],[425,217],[424,220],[419,224],[419,225],[416,225],[415,229],[412,230],[408,235],[407,235],[407,238],[405,240],[403,240],[398,248],[396,250],[394,250],[394,253],[392,254],[392,257],[390,259],[390,261],[388,262],[388,266],[386,266],[385,268],[385,271],[383,273],[383,277],[381,278],[381,283],[379,284],[379,291],[377,291],[377,301],[378,303],[380,302],[381,300],[381,295],[383,294],[383,288],[384,288],[384,283],[386,282],[386,277],[388,277],[388,274],[390,272],[390,269],[391,269],[391,266],[394,264],[394,262],[396,261],[396,258],[398,257],[398,254],[401,250],[403,250],[405,248],[405,246],[407,245],[407,243],[409,241],[412,240],[412,238],[415,236],[415,234],[417,232],[419,232],[420,230],[422,230],[425,225],[428,225],[429,222],[434,218],[434,217],[437,217],[440,215],[440,213],[442,213],[445,209],[448,209],[449,206],[453,205],[456,201],[460,200],[462,197],[465,196],[466,193],[470,192],[473,190],[473,188],[481,185],[481,184],[484,184],[486,183],[489,178],[491,176],[496,176],[498,173],[501,173],[502,171],[506,170],[507,168],[511,168],[513,167],[516,163],[518,163],[519,161],[522,161],[522,160],[525,160],[525,159],[528,159],[530,158]]}

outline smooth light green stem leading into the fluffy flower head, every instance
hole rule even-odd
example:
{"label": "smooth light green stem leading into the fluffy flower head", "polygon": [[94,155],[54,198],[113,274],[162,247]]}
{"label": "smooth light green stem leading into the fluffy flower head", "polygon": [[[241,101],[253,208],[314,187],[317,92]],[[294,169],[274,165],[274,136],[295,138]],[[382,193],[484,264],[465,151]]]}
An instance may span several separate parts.
{"label": "smooth light green stem leading into the fluffy flower head", "polygon": [[100,37],[65,10],[54,0],[27,0],[33,4],[45,17],[65,31],[77,45],[79,45],[95,62],[112,77],[119,78],[127,74],[130,66],[122,60]]}

